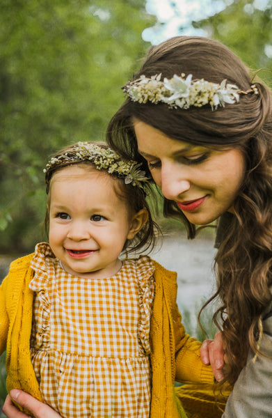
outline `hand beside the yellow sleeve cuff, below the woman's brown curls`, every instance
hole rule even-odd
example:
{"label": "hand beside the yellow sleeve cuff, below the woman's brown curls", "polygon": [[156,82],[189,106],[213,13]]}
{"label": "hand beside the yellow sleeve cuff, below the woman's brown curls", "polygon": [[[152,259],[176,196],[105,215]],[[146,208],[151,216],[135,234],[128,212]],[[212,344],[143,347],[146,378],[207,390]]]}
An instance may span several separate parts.
{"label": "hand beside the yellow sleeve cuff, below the woman's brown curls", "polygon": [[205,340],[200,348],[200,356],[204,364],[211,364],[214,377],[218,382],[224,378],[224,348],[221,332],[217,332],[214,340]]}

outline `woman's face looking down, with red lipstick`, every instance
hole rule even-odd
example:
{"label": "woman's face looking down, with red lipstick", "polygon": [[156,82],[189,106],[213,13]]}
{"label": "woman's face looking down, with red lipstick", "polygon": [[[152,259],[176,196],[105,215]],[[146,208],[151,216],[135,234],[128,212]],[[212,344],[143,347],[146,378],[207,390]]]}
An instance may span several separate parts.
{"label": "woman's face looking down, with red lipstick", "polygon": [[232,212],[246,169],[241,150],[177,141],[136,119],[134,129],[154,181],[189,222],[205,225]]}

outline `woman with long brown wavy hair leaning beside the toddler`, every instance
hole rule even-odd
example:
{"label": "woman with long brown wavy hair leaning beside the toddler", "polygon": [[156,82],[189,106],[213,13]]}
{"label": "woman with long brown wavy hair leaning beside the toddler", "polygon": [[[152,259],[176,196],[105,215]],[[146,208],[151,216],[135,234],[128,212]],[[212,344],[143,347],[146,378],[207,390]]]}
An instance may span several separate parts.
{"label": "woman with long brown wavy hair leaning beside the toddler", "polygon": [[[124,91],[111,147],[145,164],[165,214],[182,219],[189,238],[220,219],[214,321],[227,364],[221,386],[235,383],[223,417],[272,417],[271,93],[227,47],[200,37],[152,47]],[[23,417],[9,402],[6,415]]]}

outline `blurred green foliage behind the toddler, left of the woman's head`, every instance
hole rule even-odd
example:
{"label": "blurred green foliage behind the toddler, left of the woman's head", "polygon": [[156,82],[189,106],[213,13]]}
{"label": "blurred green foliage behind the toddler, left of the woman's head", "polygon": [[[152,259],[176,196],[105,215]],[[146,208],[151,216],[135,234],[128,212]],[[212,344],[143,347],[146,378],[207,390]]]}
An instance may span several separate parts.
{"label": "blurred green foliage behind the toddler, left of the woman's head", "polygon": [[0,0],[0,252],[42,239],[42,168],[54,150],[104,140],[120,87],[150,47],[145,0]]}

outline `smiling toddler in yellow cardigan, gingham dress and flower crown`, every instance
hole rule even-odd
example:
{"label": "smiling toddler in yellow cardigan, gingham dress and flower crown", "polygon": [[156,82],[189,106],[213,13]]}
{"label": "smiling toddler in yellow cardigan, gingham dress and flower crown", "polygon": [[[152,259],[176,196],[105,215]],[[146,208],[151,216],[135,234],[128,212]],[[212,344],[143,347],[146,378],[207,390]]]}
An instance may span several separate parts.
{"label": "smiling toddler in yellow cardigan, gingham dress and flower crown", "polygon": [[213,382],[181,323],[176,274],[149,256],[120,257],[154,244],[140,165],[104,143],[52,157],[49,244],[14,261],[1,285],[8,390],[63,418],[186,417],[174,380]]}

